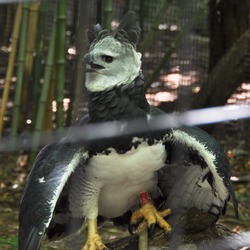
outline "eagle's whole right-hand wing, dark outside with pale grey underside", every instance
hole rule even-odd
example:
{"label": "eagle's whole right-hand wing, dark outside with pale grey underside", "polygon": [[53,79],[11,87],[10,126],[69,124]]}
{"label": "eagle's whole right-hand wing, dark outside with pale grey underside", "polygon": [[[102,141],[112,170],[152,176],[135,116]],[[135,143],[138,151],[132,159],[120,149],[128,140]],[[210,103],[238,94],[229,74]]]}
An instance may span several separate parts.
{"label": "eagle's whole right-hand wing, dark outside with pale grey underside", "polygon": [[231,196],[230,165],[220,144],[197,127],[171,129],[165,137],[166,166],[159,171],[159,187],[173,211],[198,208],[219,217]]}

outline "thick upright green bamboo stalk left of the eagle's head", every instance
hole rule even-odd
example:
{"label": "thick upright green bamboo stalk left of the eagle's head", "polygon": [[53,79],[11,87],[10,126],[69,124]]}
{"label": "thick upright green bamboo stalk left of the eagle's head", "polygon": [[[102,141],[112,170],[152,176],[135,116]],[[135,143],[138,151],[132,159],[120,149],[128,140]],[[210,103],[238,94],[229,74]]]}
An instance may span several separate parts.
{"label": "thick upright green bamboo stalk left of the eagle's head", "polygon": [[56,81],[56,124],[57,128],[64,125],[63,97],[65,82],[65,31],[66,31],[66,7],[67,1],[60,0],[57,5],[57,81]]}

